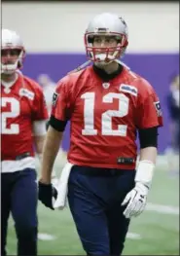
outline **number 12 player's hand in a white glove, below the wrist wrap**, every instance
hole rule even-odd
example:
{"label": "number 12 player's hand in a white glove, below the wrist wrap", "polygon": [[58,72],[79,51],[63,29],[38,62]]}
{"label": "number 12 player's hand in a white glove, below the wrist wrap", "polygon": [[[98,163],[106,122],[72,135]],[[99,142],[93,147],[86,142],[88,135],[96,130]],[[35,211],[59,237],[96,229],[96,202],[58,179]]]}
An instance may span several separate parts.
{"label": "number 12 player's hand in a white glove, below the wrist wrap", "polygon": [[136,217],[141,214],[146,206],[149,188],[137,182],[135,187],[126,195],[122,205],[126,205],[124,215],[126,218]]}

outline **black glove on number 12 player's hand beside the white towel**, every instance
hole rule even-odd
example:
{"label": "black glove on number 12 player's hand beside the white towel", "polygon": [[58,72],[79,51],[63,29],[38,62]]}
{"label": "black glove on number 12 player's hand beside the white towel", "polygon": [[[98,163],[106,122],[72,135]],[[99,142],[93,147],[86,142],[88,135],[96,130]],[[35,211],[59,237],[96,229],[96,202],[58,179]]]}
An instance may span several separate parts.
{"label": "black glove on number 12 player's hand beside the white towel", "polygon": [[52,184],[45,184],[41,181],[38,182],[39,192],[38,198],[45,206],[54,210],[52,199],[56,200],[57,198],[57,191]]}

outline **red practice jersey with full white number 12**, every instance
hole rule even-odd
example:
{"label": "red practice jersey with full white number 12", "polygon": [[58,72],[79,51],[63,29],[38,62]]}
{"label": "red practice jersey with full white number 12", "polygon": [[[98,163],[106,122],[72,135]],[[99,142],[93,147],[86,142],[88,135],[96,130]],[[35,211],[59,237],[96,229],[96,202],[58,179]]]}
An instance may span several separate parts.
{"label": "red practice jersey with full white number 12", "polygon": [[54,118],[71,121],[68,161],[74,165],[134,169],[137,129],[162,126],[156,92],[126,67],[108,83],[88,67],[61,79],[55,93]]}

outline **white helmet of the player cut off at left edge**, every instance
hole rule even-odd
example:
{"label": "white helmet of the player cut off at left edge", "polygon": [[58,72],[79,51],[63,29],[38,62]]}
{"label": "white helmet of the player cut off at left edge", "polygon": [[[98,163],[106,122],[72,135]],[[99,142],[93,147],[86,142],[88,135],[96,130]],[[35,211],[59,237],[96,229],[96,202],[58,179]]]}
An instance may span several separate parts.
{"label": "white helmet of the player cut off at left edge", "polygon": [[[7,58],[6,61],[3,61],[3,50],[19,50],[18,59],[15,63],[10,63]],[[2,29],[2,39],[1,39],[1,73],[4,74],[13,74],[19,68],[22,67],[22,61],[25,56],[25,49],[23,43],[18,36],[17,32],[9,30],[9,29]]]}

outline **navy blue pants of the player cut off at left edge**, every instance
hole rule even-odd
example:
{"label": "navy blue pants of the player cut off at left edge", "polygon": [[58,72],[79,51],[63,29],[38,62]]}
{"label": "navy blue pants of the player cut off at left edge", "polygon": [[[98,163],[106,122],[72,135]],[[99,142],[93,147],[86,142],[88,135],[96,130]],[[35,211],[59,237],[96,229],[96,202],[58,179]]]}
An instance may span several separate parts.
{"label": "navy blue pants of the player cut off at left edge", "polygon": [[10,212],[15,221],[18,255],[37,255],[37,200],[35,169],[1,174],[1,255],[6,255]]}

